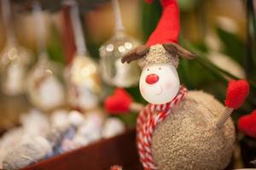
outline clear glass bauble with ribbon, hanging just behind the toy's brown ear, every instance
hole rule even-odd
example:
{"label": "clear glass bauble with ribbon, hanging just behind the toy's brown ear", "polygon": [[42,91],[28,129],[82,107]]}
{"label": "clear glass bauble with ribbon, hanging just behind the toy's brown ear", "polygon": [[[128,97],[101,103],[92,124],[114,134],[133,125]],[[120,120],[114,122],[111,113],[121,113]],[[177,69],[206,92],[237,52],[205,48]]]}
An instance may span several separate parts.
{"label": "clear glass bauble with ribbon, hanging just behind the toy's brown ear", "polygon": [[132,62],[131,65],[122,64],[121,56],[136,48],[139,42],[126,36],[119,11],[119,2],[112,0],[112,3],[115,15],[115,33],[99,49],[102,79],[108,85],[129,88],[137,85],[140,70],[137,62]]}

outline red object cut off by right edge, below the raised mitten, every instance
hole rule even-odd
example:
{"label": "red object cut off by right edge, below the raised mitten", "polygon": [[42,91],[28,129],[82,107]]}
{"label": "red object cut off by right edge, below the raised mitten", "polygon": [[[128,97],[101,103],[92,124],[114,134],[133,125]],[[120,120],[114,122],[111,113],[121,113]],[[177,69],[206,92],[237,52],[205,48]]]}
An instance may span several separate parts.
{"label": "red object cut off by right edge, below the raised mitten", "polygon": [[250,115],[241,116],[238,121],[238,128],[242,133],[256,139],[256,110]]}

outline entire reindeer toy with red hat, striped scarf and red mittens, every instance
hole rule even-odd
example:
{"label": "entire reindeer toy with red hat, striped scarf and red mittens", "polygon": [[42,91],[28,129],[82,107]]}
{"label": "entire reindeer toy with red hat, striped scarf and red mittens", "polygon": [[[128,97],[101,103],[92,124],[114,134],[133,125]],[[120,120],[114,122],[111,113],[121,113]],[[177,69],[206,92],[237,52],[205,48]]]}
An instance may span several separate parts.
{"label": "entire reindeer toy with red hat, striped scarf and red mittens", "polygon": [[122,58],[130,63],[143,59],[139,88],[149,104],[132,102],[117,89],[105,101],[108,112],[140,111],[137,117],[137,148],[145,169],[224,169],[230,162],[235,128],[230,119],[248,94],[248,83],[231,81],[225,105],[202,91],[180,86],[178,56],[195,54],[177,45],[179,12],[176,0],[161,0],[160,22],[146,45]]}

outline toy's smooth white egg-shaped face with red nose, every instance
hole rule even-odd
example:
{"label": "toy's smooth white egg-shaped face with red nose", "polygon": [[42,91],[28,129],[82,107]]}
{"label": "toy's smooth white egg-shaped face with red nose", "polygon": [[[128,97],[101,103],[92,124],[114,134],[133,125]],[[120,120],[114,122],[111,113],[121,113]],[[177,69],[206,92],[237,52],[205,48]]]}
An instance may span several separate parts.
{"label": "toy's smooth white egg-shaped face with red nose", "polygon": [[171,101],[179,90],[177,70],[169,63],[146,65],[140,77],[140,92],[149,103],[160,105]]}

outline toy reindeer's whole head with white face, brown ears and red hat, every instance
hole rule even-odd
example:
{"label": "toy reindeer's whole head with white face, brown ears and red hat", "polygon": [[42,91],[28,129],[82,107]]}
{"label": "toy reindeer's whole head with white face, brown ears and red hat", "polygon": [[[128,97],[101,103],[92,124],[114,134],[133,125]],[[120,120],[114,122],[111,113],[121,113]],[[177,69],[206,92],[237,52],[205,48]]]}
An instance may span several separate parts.
{"label": "toy reindeer's whole head with white face, brown ears and red hat", "polygon": [[178,55],[184,59],[195,58],[194,54],[177,45],[180,31],[177,0],[160,0],[160,3],[163,13],[146,45],[133,49],[122,58],[123,63],[143,59],[140,91],[144,99],[156,105],[165,104],[177,95],[180,86],[176,70]]}

